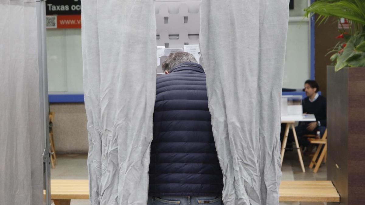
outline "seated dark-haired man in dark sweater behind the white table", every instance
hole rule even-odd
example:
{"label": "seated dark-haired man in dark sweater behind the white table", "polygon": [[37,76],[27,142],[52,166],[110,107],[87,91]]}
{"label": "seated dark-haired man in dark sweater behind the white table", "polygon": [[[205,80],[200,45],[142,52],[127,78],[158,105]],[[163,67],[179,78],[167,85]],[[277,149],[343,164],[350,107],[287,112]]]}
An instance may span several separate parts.
{"label": "seated dark-haired man in dark sweater behind the white table", "polygon": [[[303,99],[303,113],[314,114],[315,122],[301,122],[295,131],[298,137],[299,144],[303,147],[308,147],[310,142],[303,135],[315,135],[320,131],[320,136],[323,135],[327,126],[327,101],[326,98],[318,94],[319,86],[314,80],[307,80],[304,83],[304,91],[307,97]],[[293,134],[289,133],[288,140],[294,140]],[[308,150],[310,152],[311,150]],[[307,152],[307,153],[308,153]]]}

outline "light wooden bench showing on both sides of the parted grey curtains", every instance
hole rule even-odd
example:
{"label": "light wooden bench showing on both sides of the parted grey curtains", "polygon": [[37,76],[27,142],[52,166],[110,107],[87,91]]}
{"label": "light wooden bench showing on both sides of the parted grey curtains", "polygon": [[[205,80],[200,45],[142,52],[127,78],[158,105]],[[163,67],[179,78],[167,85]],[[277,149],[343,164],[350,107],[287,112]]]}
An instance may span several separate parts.
{"label": "light wooden bench showing on both sides of the parted grey curtains", "polygon": [[[89,199],[89,181],[52,179],[51,199],[55,205]],[[339,202],[340,197],[331,181],[281,181],[280,201]]]}

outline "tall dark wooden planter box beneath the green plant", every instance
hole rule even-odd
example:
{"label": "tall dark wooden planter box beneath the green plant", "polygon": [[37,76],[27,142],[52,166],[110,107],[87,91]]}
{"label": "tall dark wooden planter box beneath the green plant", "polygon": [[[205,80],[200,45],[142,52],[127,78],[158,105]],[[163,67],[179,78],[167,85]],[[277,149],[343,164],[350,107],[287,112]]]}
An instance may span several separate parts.
{"label": "tall dark wooden planter box beneath the green plant", "polygon": [[327,131],[327,179],[337,188],[340,204],[365,204],[364,67],[338,72],[327,67]]}

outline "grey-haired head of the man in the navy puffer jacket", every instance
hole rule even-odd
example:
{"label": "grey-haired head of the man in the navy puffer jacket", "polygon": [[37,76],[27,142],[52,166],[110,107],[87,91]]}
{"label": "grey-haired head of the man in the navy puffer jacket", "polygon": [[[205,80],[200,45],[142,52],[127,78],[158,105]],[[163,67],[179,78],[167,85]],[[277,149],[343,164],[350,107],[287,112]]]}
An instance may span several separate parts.
{"label": "grey-haired head of the man in the navy puffer jacket", "polygon": [[192,62],[192,63],[198,63],[195,59],[195,57],[187,52],[176,52],[171,53],[169,57],[162,63],[162,70],[165,72],[166,70],[168,72],[173,69],[173,67],[179,65],[180,63],[185,62]]}

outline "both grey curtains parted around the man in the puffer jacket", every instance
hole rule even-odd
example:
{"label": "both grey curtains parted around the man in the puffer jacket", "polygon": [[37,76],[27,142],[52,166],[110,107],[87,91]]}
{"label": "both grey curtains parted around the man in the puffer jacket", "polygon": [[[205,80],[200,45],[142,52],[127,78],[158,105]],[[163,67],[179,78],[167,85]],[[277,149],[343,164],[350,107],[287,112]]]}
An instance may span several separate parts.
{"label": "both grey curtains parted around the man in the puffer jacket", "polygon": [[[278,202],[289,0],[202,0],[200,49],[226,205]],[[91,204],[146,204],[153,0],[82,2]]]}

